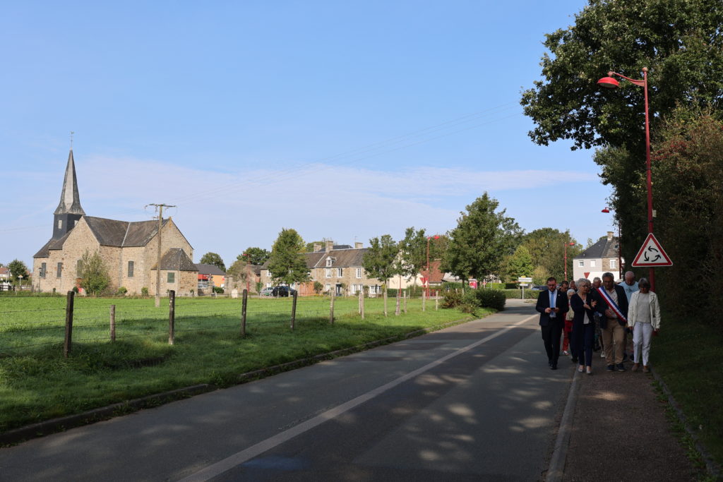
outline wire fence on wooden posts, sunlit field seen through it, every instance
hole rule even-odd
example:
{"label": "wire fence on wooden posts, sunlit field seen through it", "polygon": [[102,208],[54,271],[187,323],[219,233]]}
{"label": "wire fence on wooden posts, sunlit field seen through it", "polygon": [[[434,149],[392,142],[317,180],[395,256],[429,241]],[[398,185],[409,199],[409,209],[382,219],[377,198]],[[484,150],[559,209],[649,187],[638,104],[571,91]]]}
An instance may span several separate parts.
{"label": "wire fence on wooden posts, sunlit field seen through it", "polygon": [[[389,314],[396,301],[388,300]],[[437,304],[430,300],[430,309]],[[406,311],[406,298],[400,301]],[[116,340],[163,340],[174,343],[176,333],[209,330],[240,335],[254,327],[277,325],[294,330],[297,324],[340,317],[381,314],[382,298],[175,298],[174,293],[155,306],[153,298],[0,298],[0,356],[11,356],[38,347],[58,347],[69,353],[74,343],[108,343]]]}

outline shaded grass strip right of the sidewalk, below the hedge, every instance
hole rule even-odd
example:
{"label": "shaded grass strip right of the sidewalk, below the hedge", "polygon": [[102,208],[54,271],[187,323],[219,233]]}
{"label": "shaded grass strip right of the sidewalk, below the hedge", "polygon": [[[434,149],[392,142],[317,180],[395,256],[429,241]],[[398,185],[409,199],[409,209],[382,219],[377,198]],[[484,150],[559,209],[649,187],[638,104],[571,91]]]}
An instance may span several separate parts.
{"label": "shaded grass strip right of the sidewalk, below the hedge", "polygon": [[[714,325],[696,320],[671,319],[663,324],[661,335],[653,339],[651,364],[680,406],[685,423],[720,470],[723,333]],[[692,460],[700,463],[695,457]]]}

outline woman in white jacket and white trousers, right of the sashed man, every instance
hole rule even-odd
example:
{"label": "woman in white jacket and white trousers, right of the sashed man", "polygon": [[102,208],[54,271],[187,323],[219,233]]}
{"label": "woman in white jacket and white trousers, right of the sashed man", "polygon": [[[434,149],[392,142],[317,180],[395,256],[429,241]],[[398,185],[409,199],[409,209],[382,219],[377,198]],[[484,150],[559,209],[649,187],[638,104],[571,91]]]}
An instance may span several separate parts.
{"label": "woman in white jacket and white trousers, right of the sashed man", "polygon": [[653,332],[660,330],[660,305],[658,296],[650,291],[650,282],[641,277],[638,281],[640,291],[630,296],[628,306],[628,327],[633,330],[633,371],[640,368],[641,348],[643,351],[643,373],[648,373],[648,357],[650,355],[650,341]]}

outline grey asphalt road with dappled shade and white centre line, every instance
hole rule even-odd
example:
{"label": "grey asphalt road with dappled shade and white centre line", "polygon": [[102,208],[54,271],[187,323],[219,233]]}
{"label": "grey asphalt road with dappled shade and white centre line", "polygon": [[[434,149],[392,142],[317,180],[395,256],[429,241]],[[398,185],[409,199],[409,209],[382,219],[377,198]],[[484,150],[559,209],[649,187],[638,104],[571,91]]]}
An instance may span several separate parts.
{"label": "grey asphalt road with dappled shade and white centre line", "polygon": [[531,305],[0,449],[7,481],[534,481],[572,369]]}

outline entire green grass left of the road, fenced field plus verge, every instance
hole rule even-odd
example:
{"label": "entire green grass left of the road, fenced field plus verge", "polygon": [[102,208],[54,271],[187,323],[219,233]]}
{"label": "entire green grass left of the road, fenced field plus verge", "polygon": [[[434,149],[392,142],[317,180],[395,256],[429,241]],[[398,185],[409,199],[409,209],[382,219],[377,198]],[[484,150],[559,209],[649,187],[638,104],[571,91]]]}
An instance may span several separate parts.
{"label": "entire green grass left of the road, fenced field plus verge", "polygon": [[[239,374],[473,317],[434,301],[408,301],[383,315],[381,298],[299,298],[291,330],[291,298],[249,298],[241,337],[241,298],[176,298],[176,337],[168,345],[168,298],[75,298],[73,345],[63,356],[64,296],[0,296],[0,431],[111,403],[210,383]],[[116,306],[111,343],[110,306]],[[484,311],[490,313],[492,310]],[[479,313],[478,313],[479,315]]]}

